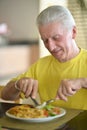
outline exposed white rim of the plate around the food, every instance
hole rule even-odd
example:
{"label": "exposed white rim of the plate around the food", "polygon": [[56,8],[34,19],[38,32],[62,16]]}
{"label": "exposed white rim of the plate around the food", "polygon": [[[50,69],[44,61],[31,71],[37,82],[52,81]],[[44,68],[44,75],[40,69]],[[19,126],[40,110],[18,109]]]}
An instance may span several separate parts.
{"label": "exposed white rim of the plate around the food", "polygon": [[49,117],[44,117],[44,118],[20,118],[20,117],[16,117],[12,114],[9,114],[8,111],[6,111],[6,116],[13,118],[13,119],[18,119],[18,120],[23,120],[23,121],[28,121],[28,122],[46,122],[46,121],[51,121],[54,120],[56,118],[62,117],[66,114],[66,110],[63,108],[60,108],[60,114],[56,115],[56,116],[49,116]]}

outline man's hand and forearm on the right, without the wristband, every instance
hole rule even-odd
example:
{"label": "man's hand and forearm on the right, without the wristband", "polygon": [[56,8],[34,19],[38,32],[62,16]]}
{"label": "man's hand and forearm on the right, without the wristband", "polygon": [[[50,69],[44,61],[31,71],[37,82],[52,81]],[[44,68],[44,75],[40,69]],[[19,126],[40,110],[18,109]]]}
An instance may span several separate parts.
{"label": "man's hand and forearm on the right, without the wristband", "polygon": [[87,78],[62,80],[56,98],[67,101],[68,96],[74,95],[81,88],[87,88]]}

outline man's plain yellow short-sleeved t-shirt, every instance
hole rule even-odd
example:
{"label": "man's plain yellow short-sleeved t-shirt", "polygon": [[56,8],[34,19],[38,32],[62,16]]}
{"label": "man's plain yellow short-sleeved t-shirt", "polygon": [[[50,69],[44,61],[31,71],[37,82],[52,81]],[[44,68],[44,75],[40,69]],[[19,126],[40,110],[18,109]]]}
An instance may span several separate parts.
{"label": "man's plain yellow short-sleeved t-shirt", "polygon": [[[53,56],[46,56],[33,64],[27,72],[13,79],[31,77],[38,80],[41,101],[55,98],[56,92],[63,79],[87,78],[87,51],[81,49],[73,59],[61,63]],[[54,105],[87,109],[87,90],[82,88],[75,95],[68,97],[68,101],[56,101]]]}

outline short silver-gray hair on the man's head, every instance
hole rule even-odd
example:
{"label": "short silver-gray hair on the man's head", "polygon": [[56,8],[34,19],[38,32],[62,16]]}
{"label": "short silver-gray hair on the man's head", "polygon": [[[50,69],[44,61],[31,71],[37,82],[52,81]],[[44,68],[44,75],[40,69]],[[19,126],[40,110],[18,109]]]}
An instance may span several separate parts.
{"label": "short silver-gray hair on the man's head", "polygon": [[60,22],[64,27],[71,29],[75,26],[75,21],[70,11],[59,5],[50,6],[44,9],[37,17],[37,26],[51,22]]}

